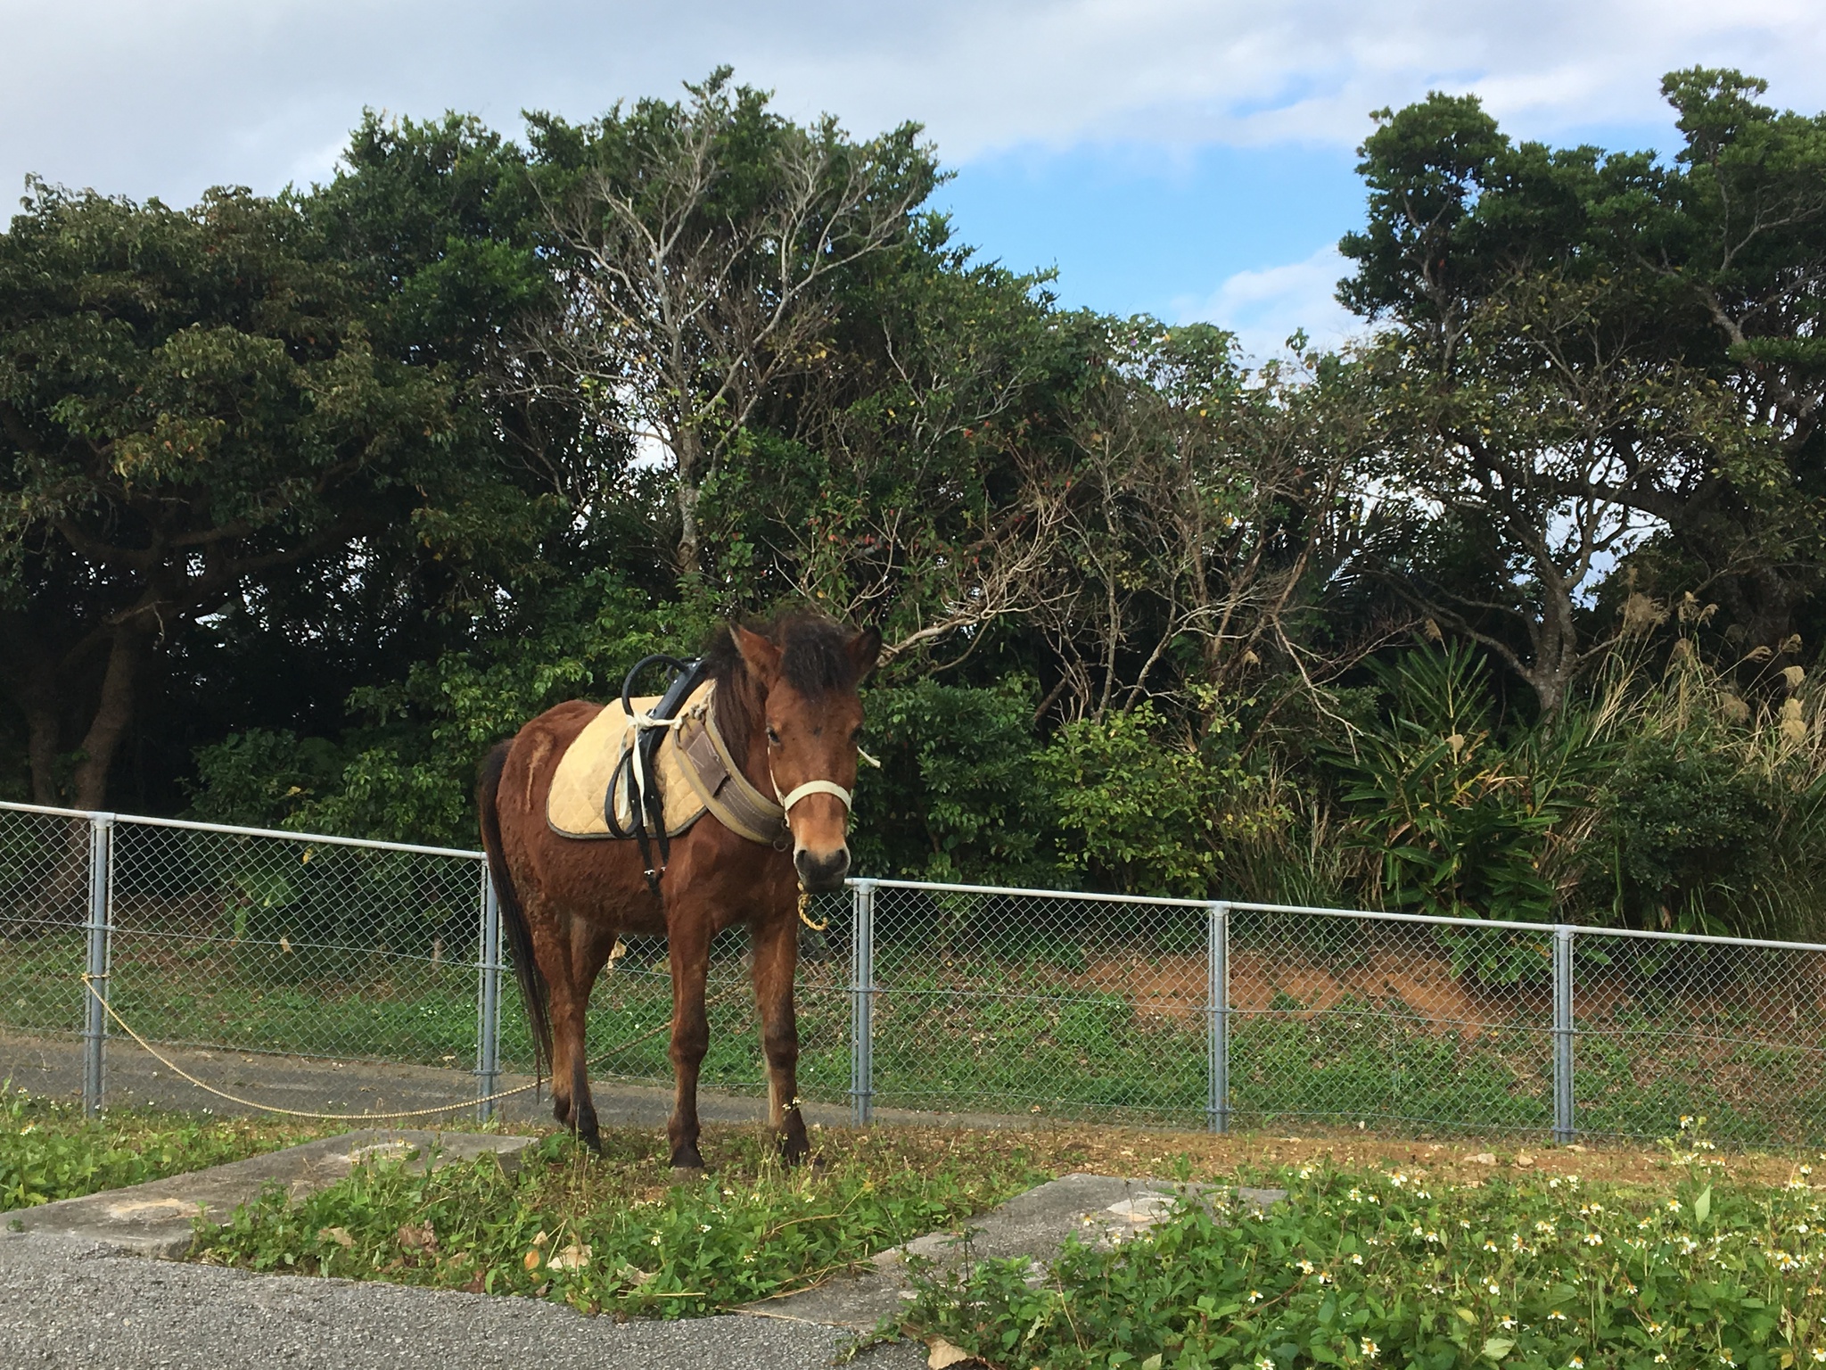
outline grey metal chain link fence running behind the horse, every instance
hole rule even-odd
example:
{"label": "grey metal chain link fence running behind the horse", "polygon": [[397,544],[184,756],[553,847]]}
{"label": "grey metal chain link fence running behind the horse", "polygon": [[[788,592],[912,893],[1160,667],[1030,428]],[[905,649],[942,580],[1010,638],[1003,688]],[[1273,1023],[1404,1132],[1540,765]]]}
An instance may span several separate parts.
{"label": "grey metal chain link fence running behind the horse", "polygon": [[[1169,1127],[1826,1140],[1826,948],[1348,910],[851,880],[800,935],[800,1092]],[[110,1021],[250,1058],[530,1072],[473,851],[0,806],[0,1038],[104,1100]],[[747,939],[701,1083],[765,1092]],[[670,1085],[663,939],[595,988],[592,1074]],[[473,1072],[466,1083],[458,1072]],[[250,1092],[259,1092],[257,1080]]]}

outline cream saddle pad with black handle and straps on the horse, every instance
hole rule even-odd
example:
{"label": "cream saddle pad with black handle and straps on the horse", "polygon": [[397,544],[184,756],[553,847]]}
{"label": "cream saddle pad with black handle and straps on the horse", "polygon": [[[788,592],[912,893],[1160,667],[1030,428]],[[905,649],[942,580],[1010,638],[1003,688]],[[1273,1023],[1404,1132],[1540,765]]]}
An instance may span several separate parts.
{"label": "cream saddle pad with black handle and straps on the horse", "polygon": [[[758,791],[716,727],[716,681],[701,663],[657,658],[679,670],[663,694],[634,696],[628,672],[621,700],[603,705],[559,758],[546,796],[546,824],[561,837],[632,838],[641,844],[648,884],[657,891],[670,838],[710,813],[729,831],[772,846],[785,838],[785,809]],[[657,853],[657,860],[656,860]]]}

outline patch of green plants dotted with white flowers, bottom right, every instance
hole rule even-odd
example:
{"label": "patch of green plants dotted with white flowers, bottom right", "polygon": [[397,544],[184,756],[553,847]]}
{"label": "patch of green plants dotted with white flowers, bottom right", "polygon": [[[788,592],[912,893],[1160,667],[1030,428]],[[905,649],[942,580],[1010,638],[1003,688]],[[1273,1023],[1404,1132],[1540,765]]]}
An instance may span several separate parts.
{"label": "patch of green plants dotted with white flowers, bottom right", "polygon": [[1401,1171],[1256,1176],[1114,1249],[920,1279],[902,1332],[1028,1370],[1793,1370],[1826,1361],[1821,1193],[1704,1151],[1662,1187]]}

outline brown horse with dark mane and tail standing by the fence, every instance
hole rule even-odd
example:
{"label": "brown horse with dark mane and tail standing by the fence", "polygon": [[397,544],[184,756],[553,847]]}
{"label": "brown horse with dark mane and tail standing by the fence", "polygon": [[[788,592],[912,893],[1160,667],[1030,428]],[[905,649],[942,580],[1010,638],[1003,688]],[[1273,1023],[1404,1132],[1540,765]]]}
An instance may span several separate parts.
{"label": "brown horse with dark mane and tail standing by the fence", "polygon": [[[478,809],[520,997],[539,1063],[551,1067],[551,1111],[601,1149],[584,1061],[590,988],[617,933],[666,939],[672,966],[672,1072],[666,1136],[676,1167],[701,1167],[698,1069],[710,1041],[705,974],[712,939],[749,924],[754,999],[767,1054],[769,1122],[789,1162],[805,1156],[798,1107],[798,891],[834,890],[849,873],[847,793],[856,785],[862,701],[878,632],[851,632],[814,616],[782,617],[760,632],[730,627],[705,652],[716,681],[716,722],[761,795],[787,802],[785,838],[738,837],[712,813],[672,838],[654,893],[632,840],[579,840],[546,824],[559,758],[601,705],[572,700],[540,714],[482,764]],[[824,782],[824,784],[820,784]],[[796,791],[805,789],[802,796]],[[842,791],[842,795],[833,793]]]}

